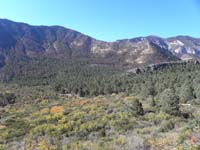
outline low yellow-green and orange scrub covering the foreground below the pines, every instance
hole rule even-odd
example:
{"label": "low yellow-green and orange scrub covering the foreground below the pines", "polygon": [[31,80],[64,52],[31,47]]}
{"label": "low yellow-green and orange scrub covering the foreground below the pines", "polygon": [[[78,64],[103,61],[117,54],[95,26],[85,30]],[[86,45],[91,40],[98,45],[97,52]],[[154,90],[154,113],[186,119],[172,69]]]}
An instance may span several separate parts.
{"label": "low yellow-green and orange scrub covering the foreground below the pines", "polygon": [[126,94],[57,95],[1,107],[0,149],[199,149],[199,105],[181,106],[192,113],[186,119],[158,112],[146,100],[144,114],[136,115],[126,107],[134,99]]}

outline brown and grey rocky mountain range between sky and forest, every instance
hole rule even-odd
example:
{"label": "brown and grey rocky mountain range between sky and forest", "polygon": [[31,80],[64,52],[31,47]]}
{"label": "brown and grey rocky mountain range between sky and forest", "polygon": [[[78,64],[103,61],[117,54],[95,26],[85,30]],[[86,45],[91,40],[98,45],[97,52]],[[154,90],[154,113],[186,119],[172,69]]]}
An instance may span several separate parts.
{"label": "brown and grey rocky mountain range between sky and forest", "polygon": [[104,42],[61,26],[31,26],[0,19],[0,65],[10,55],[102,58],[123,65],[143,65],[200,57],[200,39],[187,36],[139,37]]}

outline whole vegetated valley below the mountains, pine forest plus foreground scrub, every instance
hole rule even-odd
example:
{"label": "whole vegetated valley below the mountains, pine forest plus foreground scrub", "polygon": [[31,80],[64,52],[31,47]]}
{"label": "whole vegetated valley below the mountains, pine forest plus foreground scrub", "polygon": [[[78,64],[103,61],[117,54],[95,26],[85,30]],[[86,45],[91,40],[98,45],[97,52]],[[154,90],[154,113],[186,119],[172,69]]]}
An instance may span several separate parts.
{"label": "whole vegetated valley below the mountains, pine forest plus foreground scrub", "polygon": [[200,64],[130,69],[12,58],[1,68],[0,150],[199,149]]}

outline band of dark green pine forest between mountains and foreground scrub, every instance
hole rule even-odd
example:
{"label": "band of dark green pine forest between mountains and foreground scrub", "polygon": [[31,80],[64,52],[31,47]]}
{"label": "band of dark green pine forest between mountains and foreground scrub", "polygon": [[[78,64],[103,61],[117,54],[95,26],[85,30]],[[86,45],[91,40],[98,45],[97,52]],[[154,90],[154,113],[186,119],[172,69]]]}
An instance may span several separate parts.
{"label": "band of dark green pine forest between mountains and foreground scrub", "polygon": [[126,93],[148,98],[169,88],[187,102],[200,94],[200,64],[196,61],[163,63],[153,69],[151,66],[131,72],[130,68],[102,65],[94,60],[25,57],[12,59],[1,69],[0,79],[2,83],[21,86],[50,86],[57,93],[80,97]]}

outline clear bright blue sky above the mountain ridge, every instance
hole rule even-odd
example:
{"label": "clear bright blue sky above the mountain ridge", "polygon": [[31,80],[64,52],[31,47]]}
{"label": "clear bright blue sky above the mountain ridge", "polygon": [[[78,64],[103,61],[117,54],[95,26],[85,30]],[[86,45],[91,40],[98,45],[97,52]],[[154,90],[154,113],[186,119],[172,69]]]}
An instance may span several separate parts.
{"label": "clear bright blue sky above the mountain ridge", "polygon": [[200,0],[0,0],[0,18],[60,25],[104,41],[200,37]]}

